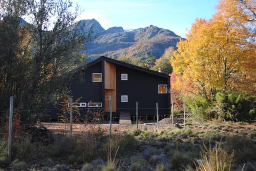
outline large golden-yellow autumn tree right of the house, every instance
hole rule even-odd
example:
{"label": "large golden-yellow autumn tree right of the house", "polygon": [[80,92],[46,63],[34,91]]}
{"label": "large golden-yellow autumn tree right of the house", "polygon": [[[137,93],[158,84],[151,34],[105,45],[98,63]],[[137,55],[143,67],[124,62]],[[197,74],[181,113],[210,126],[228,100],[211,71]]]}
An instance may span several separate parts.
{"label": "large golden-yellow autumn tree right of the house", "polygon": [[219,91],[256,92],[255,29],[239,5],[220,1],[212,19],[196,19],[178,43],[171,62],[190,93],[209,99]]}

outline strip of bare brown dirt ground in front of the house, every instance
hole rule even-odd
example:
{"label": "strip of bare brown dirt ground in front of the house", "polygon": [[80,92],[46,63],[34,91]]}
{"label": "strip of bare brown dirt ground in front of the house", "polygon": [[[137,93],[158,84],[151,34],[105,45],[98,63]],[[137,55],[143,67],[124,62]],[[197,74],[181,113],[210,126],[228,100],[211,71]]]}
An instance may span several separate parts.
{"label": "strip of bare brown dirt ground in front of the house", "polygon": [[[69,134],[70,133],[70,124],[64,123],[41,123],[44,127],[46,127],[52,133],[57,134]],[[174,127],[184,128],[183,120],[181,119],[174,119],[173,122]],[[187,124],[186,127],[190,127],[191,129],[211,129],[214,127],[227,127],[230,131],[236,129],[242,129],[246,132],[246,130],[255,129],[256,131],[256,123],[248,124],[248,123],[226,123],[226,122],[219,122],[219,121],[211,121],[207,123],[190,123]],[[171,119],[165,118],[159,121],[158,129],[166,129],[168,127],[172,127]],[[94,128],[94,130],[103,130],[108,134],[110,132],[110,124],[108,121],[104,121],[103,123],[89,123],[89,124],[72,124],[73,134],[81,134],[87,132],[90,128]],[[136,124],[131,125],[121,125],[118,122],[113,122],[111,124],[111,133],[124,133],[130,132],[137,128]],[[138,129],[140,130],[150,130],[150,131],[157,131],[157,123],[153,121],[147,121],[147,123],[139,123]]]}

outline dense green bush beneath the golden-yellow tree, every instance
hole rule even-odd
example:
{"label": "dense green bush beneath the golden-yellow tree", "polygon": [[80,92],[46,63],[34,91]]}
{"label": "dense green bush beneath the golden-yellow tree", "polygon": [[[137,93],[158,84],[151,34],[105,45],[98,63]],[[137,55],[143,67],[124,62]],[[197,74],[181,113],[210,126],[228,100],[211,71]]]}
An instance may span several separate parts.
{"label": "dense green bush beneath the golden-yellow tree", "polygon": [[209,119],[251,121],[256,118],[256,97],[249,93],[235,91],[218,92],[205,99],[195,95],[186,99],[194,119],[199,121]]}

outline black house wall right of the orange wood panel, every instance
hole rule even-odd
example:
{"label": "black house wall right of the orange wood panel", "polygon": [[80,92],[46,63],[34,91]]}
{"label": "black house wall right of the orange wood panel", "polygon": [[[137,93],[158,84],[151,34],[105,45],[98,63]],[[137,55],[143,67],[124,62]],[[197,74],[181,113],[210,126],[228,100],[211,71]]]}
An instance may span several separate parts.
{"label": "black house wall right of the orange wood panel", "polygon": [[[128,74],[128,80],[121,80],[121,74]],[[170,93],[158,94],[158,84],[168,85],[168,78],[122,66],[116,67],[116,78],[118,111],[130,111],[131,115],[136,115],[138,101],[139,115],[156,115],[156,103],[159,115],[170,114]],[[128,102],[121,102],[121,95],[128,95]]]}

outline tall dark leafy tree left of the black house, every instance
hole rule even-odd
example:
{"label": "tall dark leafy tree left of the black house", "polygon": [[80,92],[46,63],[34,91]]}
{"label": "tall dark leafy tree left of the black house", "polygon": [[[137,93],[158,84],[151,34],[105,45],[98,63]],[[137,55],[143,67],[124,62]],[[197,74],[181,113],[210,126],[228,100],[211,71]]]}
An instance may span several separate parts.
{"label": "tall dark leafy tree left of the black house", "polygon": [[14,106],[29,111],[25,116],[31,118],[85,63],[84,35],[70,29],[78,8],[65,0],[1,1],[1,6],[0,110],[14,95]]}

